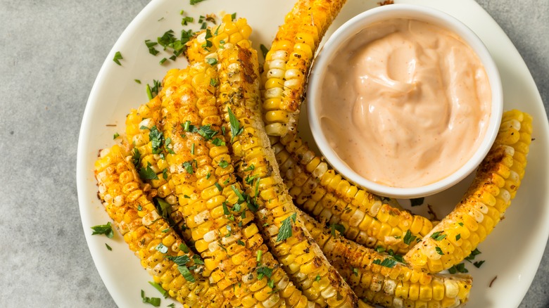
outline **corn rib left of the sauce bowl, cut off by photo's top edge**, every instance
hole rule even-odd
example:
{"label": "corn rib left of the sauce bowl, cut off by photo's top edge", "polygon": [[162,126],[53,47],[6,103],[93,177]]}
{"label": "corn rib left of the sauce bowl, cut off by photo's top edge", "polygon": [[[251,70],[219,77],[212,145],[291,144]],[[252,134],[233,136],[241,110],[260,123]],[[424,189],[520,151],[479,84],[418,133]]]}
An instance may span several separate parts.
{"label": "corn rib left of the sauce bowl, cut off by photo's top edge", "polygon": [[298,0],[265,57],[263,120],[271,136],[295,135],[313,56],[345,0]]}

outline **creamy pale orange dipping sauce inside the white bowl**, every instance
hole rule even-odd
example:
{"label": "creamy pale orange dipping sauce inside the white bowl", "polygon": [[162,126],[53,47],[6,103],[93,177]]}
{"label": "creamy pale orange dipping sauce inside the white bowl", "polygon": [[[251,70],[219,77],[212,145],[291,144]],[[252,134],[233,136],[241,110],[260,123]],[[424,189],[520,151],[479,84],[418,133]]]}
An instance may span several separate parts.
{"label": "creamy pale orange dipping sauce inside the white bowl", "polygon": [[465,165],[491,113],[484,66],[457,34],[419,20],[362,30],[329,64],[320,126],[362,177],[424,186]]}

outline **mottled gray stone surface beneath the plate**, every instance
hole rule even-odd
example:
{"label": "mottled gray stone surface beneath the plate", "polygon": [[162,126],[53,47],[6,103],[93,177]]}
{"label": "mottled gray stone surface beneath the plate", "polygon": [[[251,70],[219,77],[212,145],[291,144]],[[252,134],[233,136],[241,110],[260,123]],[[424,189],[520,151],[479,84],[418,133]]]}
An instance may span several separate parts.
{"label": "mottled gray stone surface beneath the plate", "polygon": [[[0,0],[0,307],[115,307],[82,231],[77,139],[103,60],[147,3]],[[479,3],[517,46],[548,110],[549,1]],[[520,307],[549,307],[548,285],[545,249]]]}

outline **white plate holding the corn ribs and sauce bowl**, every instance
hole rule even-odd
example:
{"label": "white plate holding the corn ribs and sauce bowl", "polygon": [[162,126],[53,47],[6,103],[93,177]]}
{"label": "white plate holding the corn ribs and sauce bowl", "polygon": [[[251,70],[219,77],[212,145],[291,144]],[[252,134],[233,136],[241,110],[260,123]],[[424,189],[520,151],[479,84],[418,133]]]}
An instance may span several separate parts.
{"label": "white plate holding the corn ribs and sauce bowl", "polygon": [[[536,84],[507,35],[473,0],[396,2],[432,6],[454,15],[471,27],[488,46],[498,64],[505,109],[519,108],[534,115],[533,137],[536,141],[531,144],[529,165],[522,187],[505,219],[479,246],[482,254],[477,259],[486,260],[486,263],[480,269],[467,264],[469,273],[474,277],[467,307],[517,307],[536,274],[549,235],[549,127]],[[208,0],[190,6],[188,1],[181,0],[151,1],[130,23],[108,54],[82,119],[77,154],[77,188],[82,226],[89,250],[106,288],[118,306],[149,307],[141,302],[141,290],[145,290],[148,297],[160,297],[160,294],[147,283],[152,280],[151,276],[141,268],[139,260],[127,248],[120,234],[115,233],[113,239],[92,236],[91,226],[110,221],[96,196],[94,161],[99,149],[113,145],[113,134],[125,131],[125,115],[130,108],[137,108],[147,101],[145,84],[152,84],[153,79],[162,79],[169,68],[187,65],[184,58],[178,58],[176,63],[168,61],[159,65],[161,58],[170,55],[163,52],[156,57],[151,56],[144,41],[155,40],[170,29],[178,36],[183,28],[179,11],[183,9],[187,15],[196,19],[206,13],[236,12],[238,17],[247,18],[253,27],[252,40],[255,47],[259,44],[270,46],[278,25],[282,24],[284,15],[293,4],[293,0]],[[348,1],[327,35],[349,18],[374,6],[377,6],[377,0]],[[193,25],[196,30],[196,21]],[[122,66],[113,62],[116,51],[120,51],[124,57],[120,60]],[[142,84],[137,84],[134,79],[140,79]],[[301,135],[312,143],[310,129],[305,121],[302,121],[300,127]],[[314,144],[311,146],[314,148]],[[465,192],[467,181],[470,179],[450,191],[428,198],[426,203],[437,204],[436,212],[446,214]],[[412,210],[424,208],[427,206],[414,207]],[[106,243],[113,248],[112,251],[106,249]],[[490,286],[491,281],[493,283]],[[165,307],[171,302],[169,299],[163,300],[161,306]]]}

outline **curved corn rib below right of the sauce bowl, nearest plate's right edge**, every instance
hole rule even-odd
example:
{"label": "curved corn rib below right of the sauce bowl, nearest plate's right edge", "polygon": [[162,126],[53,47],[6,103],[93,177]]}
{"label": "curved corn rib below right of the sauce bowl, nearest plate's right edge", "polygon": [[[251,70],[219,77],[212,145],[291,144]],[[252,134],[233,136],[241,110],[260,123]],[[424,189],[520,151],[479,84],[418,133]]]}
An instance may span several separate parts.
{"label": "curved corn rib below right of the sauce bowl, nearest plate's right edge", "polygon": [[524,176],[531,133],[530,115],[519,110],[503,113],[496,142],[477,169],[467,193],[405,255],[410,265],[430,273],[448,269],[467,257],[491,233]]}

